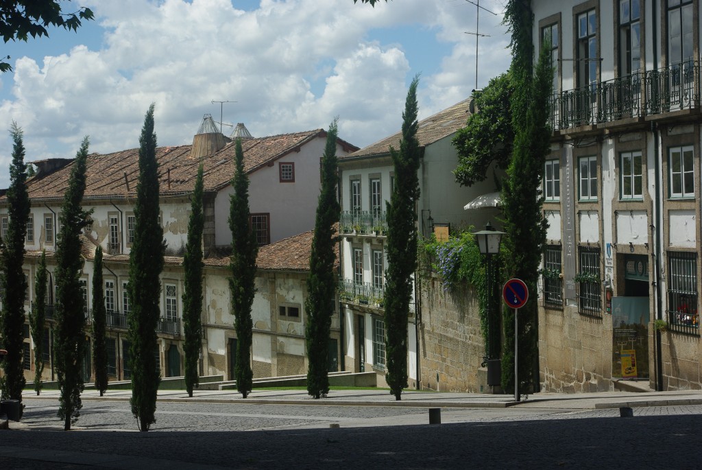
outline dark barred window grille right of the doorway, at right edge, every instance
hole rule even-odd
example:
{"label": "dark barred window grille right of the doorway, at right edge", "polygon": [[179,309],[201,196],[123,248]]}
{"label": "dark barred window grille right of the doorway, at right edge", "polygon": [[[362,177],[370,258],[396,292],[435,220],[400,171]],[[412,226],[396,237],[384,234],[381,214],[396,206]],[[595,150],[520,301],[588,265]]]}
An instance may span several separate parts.
{"label": "dark barred window grille right of the doorway, at right edge", "polygon": [[668,252],[668,326],[672,331],[699,334],[697,254]]}

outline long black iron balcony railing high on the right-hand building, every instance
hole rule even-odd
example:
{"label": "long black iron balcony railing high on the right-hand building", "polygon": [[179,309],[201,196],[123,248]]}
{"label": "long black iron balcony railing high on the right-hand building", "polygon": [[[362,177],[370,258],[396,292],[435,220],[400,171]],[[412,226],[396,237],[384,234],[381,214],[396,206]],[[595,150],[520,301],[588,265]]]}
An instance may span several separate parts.
{"label": "long black iron balcony railing high on the right-hand building", "polygon": [[550,126],[557,131],[687,110],[700,106],[701,95],[699,63],[635,72],[555,93],[550,100]]}

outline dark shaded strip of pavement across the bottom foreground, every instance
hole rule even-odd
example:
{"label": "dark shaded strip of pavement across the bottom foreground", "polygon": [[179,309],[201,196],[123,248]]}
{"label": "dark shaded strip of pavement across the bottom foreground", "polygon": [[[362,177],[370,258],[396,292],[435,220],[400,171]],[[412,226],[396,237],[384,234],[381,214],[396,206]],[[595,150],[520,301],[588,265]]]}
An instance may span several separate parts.
{"label": "dark shaded strip of pavement across the bottom foreground", "polygon": [[581,419],[249,432],[5,431],[0,433],[0,464],[7,470],[700,466],[699,414],[575,414]]}

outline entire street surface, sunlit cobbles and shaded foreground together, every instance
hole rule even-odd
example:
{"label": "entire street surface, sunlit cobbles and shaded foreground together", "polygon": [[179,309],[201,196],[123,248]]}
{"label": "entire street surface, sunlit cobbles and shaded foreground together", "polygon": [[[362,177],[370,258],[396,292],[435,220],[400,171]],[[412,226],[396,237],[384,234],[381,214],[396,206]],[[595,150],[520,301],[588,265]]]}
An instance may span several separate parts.
{"label": "entire street surface, sunlit cobbles and shaded foreground together", "polygon": [[428,422],[421,408],[159,403],[152,431],[139,433],[126,402],[86,401],[82,430],[71,432],[55,430],[53,401],[25,404],[22,422],[31,430],[0,432],[2,469],[698,469],[702,462],[699,405],[636,408],[630,418],[616,409],[444,409],[444,424],[430,425],[419,424]]}

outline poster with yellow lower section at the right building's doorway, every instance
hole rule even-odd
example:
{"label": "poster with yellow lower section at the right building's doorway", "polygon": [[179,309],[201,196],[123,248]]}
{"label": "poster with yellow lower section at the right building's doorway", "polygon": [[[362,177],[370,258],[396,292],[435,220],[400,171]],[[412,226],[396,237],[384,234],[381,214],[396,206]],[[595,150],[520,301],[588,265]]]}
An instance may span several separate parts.
{"label": "poster with yellow lower section at the right building's doorway", "polygon": [[612,297],[612,377],[649,378],[648,297]]}

